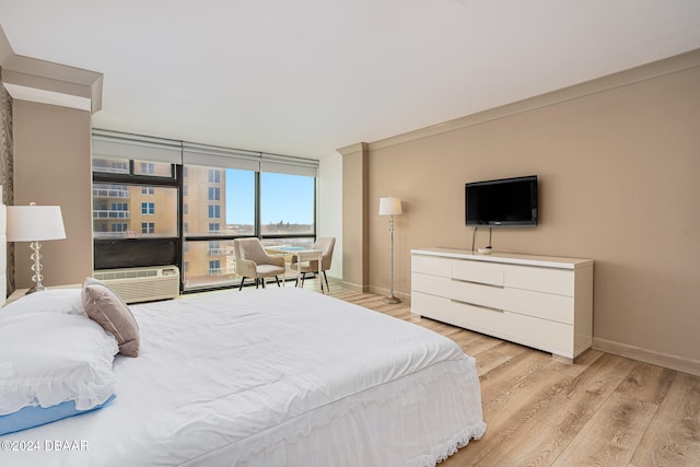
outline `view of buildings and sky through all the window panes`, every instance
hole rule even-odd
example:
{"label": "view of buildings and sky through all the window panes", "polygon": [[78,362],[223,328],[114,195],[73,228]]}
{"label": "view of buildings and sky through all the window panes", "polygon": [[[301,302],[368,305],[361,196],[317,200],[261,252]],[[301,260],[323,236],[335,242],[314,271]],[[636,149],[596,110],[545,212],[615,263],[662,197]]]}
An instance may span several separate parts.
{"label": "view of buildings and sky through all the window panes", "polygon": [[[172,176],[167,163],[93,159],[93,171],[106,174]],[[186,289],[237,283],[233,240],[258,235],[266,247],[310,247],[315,234],[315,178],[259,174],[256,199],[253,171],[183,166],[183,209],[178,189],[144,184],[93,185],[95,238],[179,237],[180,271]],[[259,219],[259,225],[256,223]]]}

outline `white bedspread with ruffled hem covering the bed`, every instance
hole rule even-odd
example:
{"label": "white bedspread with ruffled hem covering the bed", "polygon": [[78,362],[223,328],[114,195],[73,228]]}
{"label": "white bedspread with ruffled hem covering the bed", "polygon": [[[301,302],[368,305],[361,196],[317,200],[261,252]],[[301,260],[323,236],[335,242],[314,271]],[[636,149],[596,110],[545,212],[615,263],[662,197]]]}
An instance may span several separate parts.
{"label": "white bedspread with ruffled hem covering the bed", "polygon": [[419,326],[294,288],[131,311],[112,405],[0,436],[3,465],[424,466],[483,433],[474,359]]}

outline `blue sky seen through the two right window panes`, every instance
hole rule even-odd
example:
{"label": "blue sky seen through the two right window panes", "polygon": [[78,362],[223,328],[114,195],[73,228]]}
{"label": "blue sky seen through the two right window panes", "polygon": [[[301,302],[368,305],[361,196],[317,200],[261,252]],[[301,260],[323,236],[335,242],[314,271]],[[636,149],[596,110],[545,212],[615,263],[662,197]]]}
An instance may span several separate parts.
{"label": "blue sky seen through the two right window panes", "polygon": [[[253,224],[255,173],[226,168],[226,223]],[[275,173],[260,174],[262,225],[284,222],[314,223],[314,178]]]}

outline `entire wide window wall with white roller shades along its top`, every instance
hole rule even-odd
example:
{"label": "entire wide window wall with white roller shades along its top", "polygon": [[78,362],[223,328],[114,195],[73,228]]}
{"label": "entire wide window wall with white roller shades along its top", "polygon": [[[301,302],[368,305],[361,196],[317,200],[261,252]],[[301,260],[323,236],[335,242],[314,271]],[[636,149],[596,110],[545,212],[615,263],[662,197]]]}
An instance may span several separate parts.
{"label": "entire wide window wall with white roller shades along its top", "polygon": [[104,130],[92,149],[95,269],[178,264],[185,289],[237,285],[235,238],[315,240],[315,161]]}

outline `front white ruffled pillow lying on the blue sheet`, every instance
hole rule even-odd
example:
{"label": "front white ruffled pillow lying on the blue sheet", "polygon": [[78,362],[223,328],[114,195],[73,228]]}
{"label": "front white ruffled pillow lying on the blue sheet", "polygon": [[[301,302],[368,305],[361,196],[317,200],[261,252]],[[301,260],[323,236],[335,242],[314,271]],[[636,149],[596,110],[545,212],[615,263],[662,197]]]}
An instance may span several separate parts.
{"label": "front white ruffled pillow lying on the blue sheet", "polygon": [[0,416],[68,400],[78,410],[105,402],[114,394],[112,362],[118,350],[114,337],[86,316],[4,316],[0,319]]}

